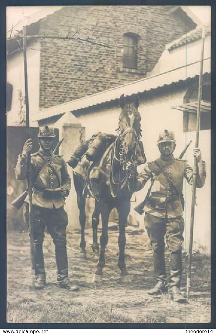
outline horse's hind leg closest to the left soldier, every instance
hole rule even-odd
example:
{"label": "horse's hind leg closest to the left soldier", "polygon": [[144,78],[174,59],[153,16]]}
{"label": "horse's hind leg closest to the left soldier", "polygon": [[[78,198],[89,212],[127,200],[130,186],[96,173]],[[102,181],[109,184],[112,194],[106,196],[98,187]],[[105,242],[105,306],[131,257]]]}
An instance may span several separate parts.
{"label": "horse's hind leg closest to the left soldier", "polygon": [[84,181],[81,176],[73,174],[73,182],[77,195],[77,205],[79,208],[79,223],[81,226],[81,241],[80,248],[81,252],[86,254],[86,242],[85,242],[85,222],[86,222],[86,214],[85,214],[85,197],[82,196],[82,192],[84,189]]}

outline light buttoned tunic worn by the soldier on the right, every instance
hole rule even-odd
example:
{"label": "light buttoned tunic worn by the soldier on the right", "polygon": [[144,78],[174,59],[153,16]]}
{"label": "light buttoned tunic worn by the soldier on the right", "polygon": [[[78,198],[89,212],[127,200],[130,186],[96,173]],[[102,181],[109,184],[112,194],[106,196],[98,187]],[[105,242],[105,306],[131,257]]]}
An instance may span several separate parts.
{"label": "light buttoned tunic worn by the soldier on the right", "polygon": [[[150,200],[147,202],[145,212],[165,218],[174,218],[183,215],[183,180],[186,178],[192,184],[193,168],[186,160],[175,159],[173,156],[164,161],[161,157],[156,161],[146,163],[144,169],[139,173],[136,182],[136,191],[142,189],[146,182],[162,170],[166,165],[173,162],[154,181]],[[201,188],[205,183],[205,162],[198,163],[197,187]]]}

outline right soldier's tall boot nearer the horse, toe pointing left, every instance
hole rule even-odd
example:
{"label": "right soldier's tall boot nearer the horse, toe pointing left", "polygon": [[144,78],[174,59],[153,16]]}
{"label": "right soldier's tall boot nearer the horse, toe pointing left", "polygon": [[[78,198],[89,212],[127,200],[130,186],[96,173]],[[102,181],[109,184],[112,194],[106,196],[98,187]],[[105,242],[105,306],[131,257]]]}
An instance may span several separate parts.
{"label": "right soldier's tall boot nearer the horse, toe pointing left", "polygon": [[147,293],[148,295],[160,295],[168,291],[164,249],[157,249],[157,251],[153,251],[153,263],[157,283],[155,287],[149,290]]}

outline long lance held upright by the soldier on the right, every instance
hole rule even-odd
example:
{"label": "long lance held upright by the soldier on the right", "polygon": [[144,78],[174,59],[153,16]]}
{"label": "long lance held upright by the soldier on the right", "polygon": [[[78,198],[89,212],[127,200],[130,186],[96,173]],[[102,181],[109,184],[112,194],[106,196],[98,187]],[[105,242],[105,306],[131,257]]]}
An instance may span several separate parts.
{"label": "long lance held upright by the soldier on the right", "polygon": [[[197,106],[195,147],[199,146],[204,41],[205,41],[205,26],[203,25],[203,27],[202,27],[202,46],[201,46],[201,59],[200,59],[200,76],[199,76],[199,88],[198,88],[198,106]],[[193,233],[194,233],[194,211],[195,211],[195,200],[196,200],[197,169],[198,169],[197,158],[194,157],[193,182],[192,182],[192,204],[191,204],[191,225],[190,225],[190,239],[189,239],[189,250],[188,250],[187,300],[189,300],[189,292],[190,292],[190,287],[191,287],[191,263],[192,263],[192,248],[193,248]]]}

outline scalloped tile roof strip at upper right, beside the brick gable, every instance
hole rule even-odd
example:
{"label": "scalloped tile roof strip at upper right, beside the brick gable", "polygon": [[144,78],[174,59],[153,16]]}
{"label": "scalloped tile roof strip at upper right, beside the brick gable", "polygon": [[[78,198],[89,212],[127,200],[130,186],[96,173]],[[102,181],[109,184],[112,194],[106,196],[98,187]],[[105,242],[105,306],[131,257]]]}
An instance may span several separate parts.
{"label": "scalloped tile roof strip at upper right, beside the brick gable", "polygon": [[[211,32],[211,27],[210,25],[205,26],[205,35],[210,34]],[[182,37],[174,40],[172,43],[168,44],[167,49],[169,51],[176,49],[177,47],[180,47],[184,44],[193,42],[197,39],[200,39],[202,37],[202,26],[197,26],[195,29],[187,32],[185,35]]]}

